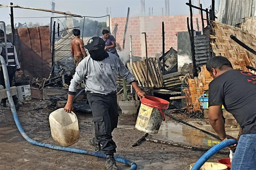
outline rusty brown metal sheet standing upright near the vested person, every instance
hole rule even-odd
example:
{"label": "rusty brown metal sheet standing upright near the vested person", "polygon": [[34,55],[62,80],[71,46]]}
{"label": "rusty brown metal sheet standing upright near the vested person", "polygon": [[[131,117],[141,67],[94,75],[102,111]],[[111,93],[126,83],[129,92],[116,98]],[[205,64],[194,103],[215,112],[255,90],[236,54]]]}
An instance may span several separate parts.
{"label": "rusty brown metal sheet standing upright near the vested person", "polygon": [[18,28],[22,49],[21,69],[30,79],[48,78],[51,72],[49,26]]}

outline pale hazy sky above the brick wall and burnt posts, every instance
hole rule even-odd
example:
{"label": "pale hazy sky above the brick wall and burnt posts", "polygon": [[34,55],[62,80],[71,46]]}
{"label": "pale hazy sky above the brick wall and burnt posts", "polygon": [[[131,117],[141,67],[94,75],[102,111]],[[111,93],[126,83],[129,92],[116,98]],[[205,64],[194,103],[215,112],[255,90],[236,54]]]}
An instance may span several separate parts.
{"label": "pale hazy sky above the brick wall and burnt posts", "polygon": [[[203,8],[209,8],[211,0],[200,0]],[[52,0],[1,0],[1,4],[18,4],[34,8],[51,9]],[[130,7],[130,16],[140,16],[140,0],[54,0],[56,11],[70,11],[71,13],[83,16],[104,16],[107,14],[108,7],[111,17],[126,17],[127,8]],[[153,16],[162,15],[164,0],[145,0],[145,13],[148,16],[148,8],[153,7]],[[189,7],[185,4],[188,0],[170,0],[170,15],[187,15]],[[218,9],[218,0],[215,2],[215,8]],[[197,6],[197,0],[192,0],[192,4]],[[165,9],[165,8],[164,8]],[[5,21],[6,25],[10,24],[10,8],[0,8],[0,20]],[[197,10],[195,11],[197,14]],[[50,23],[50,18],[15,18],[15,17],[51,17],[52,13],[35,11],[28,9],[13,8],[14,23],[39,22],[42,24]],[[54,14],[56,16],[64,16]],[[95,19],[106,21],[106,18]]]}

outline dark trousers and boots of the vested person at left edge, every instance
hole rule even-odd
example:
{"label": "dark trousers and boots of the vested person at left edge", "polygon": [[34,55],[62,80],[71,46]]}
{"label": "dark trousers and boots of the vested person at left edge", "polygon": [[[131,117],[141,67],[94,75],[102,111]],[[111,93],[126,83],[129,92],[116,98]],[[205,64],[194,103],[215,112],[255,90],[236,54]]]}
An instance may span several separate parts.
{"label": "dark trousers and boots of the vested person at left edge", "polygon": [[[12,87],[12,80],[13,77],[15,75],[16,72],[16,66],[7,66],[7,72],[8,72],[8,78],[9,78],[9,83],[10,83],[10,87]],[[4,72],[3,72],[3,68],[0,68],[0,85],[3,85],[5,88],[5,82],[4,82]],[[16,104],[18,102],[18,98],[15,96],[12,96],[13,102],[14,104]],[[6,99],[2,99],[1,103],[5,103],[7,100]]]}

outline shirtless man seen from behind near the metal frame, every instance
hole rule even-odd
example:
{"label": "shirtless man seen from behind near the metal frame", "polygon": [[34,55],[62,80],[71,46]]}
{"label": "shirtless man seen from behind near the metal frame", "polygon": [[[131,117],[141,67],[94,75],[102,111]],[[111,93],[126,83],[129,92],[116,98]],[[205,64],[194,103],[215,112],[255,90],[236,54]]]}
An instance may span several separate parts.
{"label": "shirtless man seen from behind near the metal frame", "polygon": [[70,43],[71,55],[74,57],[76,67],[87,56],[84,50],[84,42],[80,39],[80,30],[74,29],[75,38]]}

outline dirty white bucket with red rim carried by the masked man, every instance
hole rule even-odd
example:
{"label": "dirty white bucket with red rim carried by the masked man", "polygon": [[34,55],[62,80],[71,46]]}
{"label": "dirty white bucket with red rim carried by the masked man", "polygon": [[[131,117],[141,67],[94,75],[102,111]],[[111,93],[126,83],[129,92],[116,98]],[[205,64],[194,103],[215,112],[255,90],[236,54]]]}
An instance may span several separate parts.
{"label": "dirty white bucket with red rim carried by the masked man", "polygon": [[162,121],[165,121],[164,111],[169,104],[168,101],[157,97],[142,98],[135,128],[147,133],[158,133]]}

